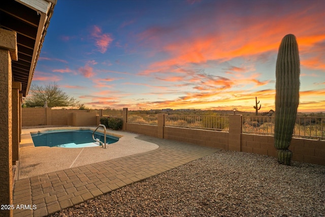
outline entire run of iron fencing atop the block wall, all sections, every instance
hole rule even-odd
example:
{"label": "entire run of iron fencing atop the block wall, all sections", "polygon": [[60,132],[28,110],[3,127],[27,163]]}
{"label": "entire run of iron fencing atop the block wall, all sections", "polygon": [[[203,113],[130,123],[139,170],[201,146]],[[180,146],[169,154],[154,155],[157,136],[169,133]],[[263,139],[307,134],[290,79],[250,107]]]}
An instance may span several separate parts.
{"label": "entire run of iron fencing atop the block wall, all sections", "polygon": [[[128,114],[127,122],[158,125],[156,114]],[[242,132],[274,135],[274,116],[244,116]],[[165,126],[229,131],[229,116],[165,115]],[[293,137],[325,140],[325,117],[297,117]]]}

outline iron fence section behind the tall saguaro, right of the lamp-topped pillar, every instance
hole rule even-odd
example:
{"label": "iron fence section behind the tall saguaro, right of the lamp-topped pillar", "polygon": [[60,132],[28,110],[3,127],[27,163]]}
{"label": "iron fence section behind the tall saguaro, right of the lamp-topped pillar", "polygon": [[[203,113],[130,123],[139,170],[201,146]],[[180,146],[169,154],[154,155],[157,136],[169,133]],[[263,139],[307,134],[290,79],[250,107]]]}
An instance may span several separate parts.
{"label": "iron fence section behind the tall saguaro, right of the lamp-topped pillar", "polygon": [[[274,134],[275,117],[245,116],[242,132],[248,134]],[[325,117],[297,117],[293,137],[325,139]]]}

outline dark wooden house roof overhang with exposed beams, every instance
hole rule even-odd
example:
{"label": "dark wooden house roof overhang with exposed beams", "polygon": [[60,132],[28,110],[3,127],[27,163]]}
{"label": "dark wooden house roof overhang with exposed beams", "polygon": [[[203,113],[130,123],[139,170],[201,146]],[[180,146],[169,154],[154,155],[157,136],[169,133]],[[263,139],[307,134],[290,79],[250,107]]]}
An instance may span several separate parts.
{"label": "dark wooden house roof overhang with exposed beams", "polygon": [[0,28],[17,33],[18,61],[12,61],[13,81],[26,97],[57,0],[0,2]]}

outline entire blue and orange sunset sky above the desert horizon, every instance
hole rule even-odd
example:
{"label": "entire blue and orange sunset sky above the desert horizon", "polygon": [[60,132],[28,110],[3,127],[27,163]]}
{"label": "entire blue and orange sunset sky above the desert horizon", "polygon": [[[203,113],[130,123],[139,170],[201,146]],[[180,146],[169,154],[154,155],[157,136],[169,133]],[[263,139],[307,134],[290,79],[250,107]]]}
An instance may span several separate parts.
{"label": "entire blue and orange sunset sky above the desert horizon", "polygon": [[257,97],[269,111],[287,34],[298,111],[325,111],[323,0],[58,0],[32,84],[56,82],[88,108],[254,112]]}

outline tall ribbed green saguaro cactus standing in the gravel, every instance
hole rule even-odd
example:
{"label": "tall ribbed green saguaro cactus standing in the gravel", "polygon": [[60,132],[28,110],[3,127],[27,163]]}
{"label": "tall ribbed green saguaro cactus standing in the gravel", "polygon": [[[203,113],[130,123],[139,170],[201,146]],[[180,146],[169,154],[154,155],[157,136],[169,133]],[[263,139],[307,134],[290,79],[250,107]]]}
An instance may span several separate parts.
{"label": "tall ribbed green saguaro cactus standing in the gravel", "polygon": [[286,35],[281,41],[275,76],[274,146],[277,149],[278,162],[290,165],[292,152],[288,147],[295,127],[300,87],[299,50],[294,35]]}

